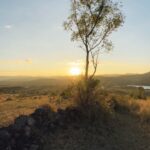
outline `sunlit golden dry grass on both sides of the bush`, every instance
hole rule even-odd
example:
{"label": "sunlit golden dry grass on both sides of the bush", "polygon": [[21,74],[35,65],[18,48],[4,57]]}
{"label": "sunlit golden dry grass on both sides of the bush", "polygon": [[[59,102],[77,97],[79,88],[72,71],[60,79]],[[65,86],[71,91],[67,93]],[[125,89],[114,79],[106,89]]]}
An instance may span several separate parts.
{"label": "sunlit golden dry grass on both sides of the bush", "polygon": [[[105,103],[111,99],[117,102],[121,111],[129,111],[139,116],[141,121],[150,122],[150,97],[147,100],[135,100],[128,96],[100,94],[98,99],[106,111],[110,109],[107,109],[108,105]],[[31,114],[36,108],[45,104],[50,105],[54,111],[74,105],[72,100],[62,100],[59,96],[19,97],[17,94],[0,94],[0,127],[9,125],[19,115]]]}

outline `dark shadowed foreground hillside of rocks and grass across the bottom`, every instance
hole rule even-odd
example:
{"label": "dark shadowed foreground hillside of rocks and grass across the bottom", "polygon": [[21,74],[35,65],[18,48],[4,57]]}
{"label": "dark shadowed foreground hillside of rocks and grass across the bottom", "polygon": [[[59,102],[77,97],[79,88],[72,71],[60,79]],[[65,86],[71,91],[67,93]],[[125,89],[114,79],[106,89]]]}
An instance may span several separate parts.
{"label": "dark shadowed foreground hillside of rocks and grass across the bottom", "polygon": [[[126,109],[110,117],[95,107],[92,118],[77,107],[41,107],[21,115],[7,128],[0,128],[2,150],[149,150],[149,122]],[[86,110],[84,110],[86,111]]]}

